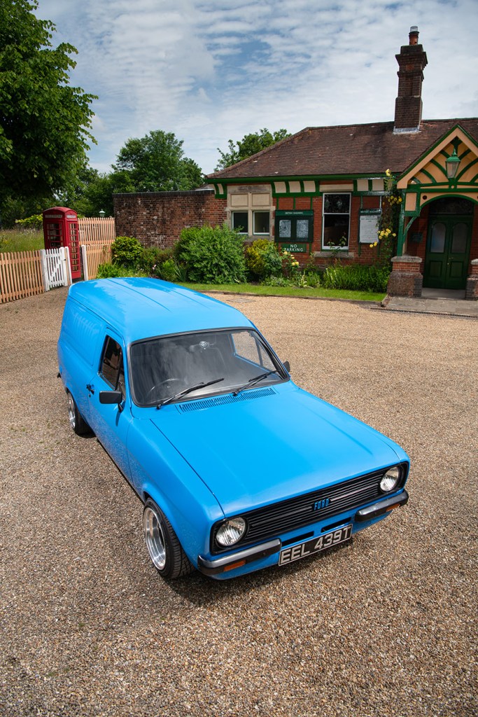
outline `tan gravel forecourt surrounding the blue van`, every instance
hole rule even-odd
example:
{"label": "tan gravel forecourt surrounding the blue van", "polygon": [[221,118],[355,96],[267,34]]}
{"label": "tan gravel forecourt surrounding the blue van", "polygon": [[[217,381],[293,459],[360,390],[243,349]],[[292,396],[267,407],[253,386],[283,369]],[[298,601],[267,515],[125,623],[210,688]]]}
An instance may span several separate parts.
{"label": "tan gravel forecourt surrounding the blue van", "polygon": [[225,298],[405,448],[411,498],[320,556],[166,584],[140,501],[67,422],[65,296],[0,306],[1,715],[476,715],[478,322]]}

